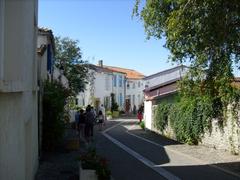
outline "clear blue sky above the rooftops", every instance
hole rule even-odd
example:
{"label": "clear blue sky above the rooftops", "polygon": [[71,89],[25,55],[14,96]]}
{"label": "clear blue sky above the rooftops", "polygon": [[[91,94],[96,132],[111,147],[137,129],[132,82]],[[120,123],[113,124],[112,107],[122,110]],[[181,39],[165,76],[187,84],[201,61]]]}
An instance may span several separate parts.
{"label": "clear blue sky above the rooftops", "polygon": [[39,27],[79,40],[83,59],[135,69],[144,75],[174,67],[164,40],[146,40],[143,22],[132,18],[135,0],[39,0]]}

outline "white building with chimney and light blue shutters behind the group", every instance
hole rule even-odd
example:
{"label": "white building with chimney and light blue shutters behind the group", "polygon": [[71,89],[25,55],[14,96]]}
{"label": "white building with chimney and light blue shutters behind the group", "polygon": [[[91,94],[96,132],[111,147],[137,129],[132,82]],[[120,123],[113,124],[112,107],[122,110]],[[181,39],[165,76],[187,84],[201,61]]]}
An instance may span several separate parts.
{"label": "white building with chimney and light blue shutters behind the group", "polygon": [[107,109],[111,108],[111,94],[114,94],[115,101],[119,109],[124,109],[125,104],[125,74],[113,71],[99,64],[89,65],[88,84],[84,92],[77,96],[78,105],[87,106],[88,104],[99,107],[104,104]]}

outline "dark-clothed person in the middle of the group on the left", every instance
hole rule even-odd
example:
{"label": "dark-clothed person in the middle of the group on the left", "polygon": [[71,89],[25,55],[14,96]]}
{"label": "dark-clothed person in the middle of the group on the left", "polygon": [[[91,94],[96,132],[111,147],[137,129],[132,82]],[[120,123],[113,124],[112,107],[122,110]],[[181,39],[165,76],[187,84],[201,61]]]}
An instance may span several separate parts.
{"label": "dark-clothed person in the middle of the group on the left", "polygon": [[86,108],[86,119],[85,119],[85,137],[89,142],[89,138],[93,137],[93,127],[95,122],[94,113],[91,110],[91,106],[87,106]]}

